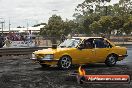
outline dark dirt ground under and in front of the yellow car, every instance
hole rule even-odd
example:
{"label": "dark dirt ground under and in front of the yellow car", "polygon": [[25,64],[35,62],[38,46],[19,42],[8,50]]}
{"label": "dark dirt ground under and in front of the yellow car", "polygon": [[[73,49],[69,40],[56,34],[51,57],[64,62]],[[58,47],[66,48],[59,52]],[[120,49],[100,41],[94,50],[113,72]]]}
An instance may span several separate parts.
{"label": "dark dirt ground under and in front of the yellow car", "polygon": [[[0,88],[132,88],[130,84],[77,84],[69,73],[78,67],[63,71],[57,67],[41,68],[33,64],[28,56],[0,57]],[[104,64],[85,66],[87,74],[128,74],[132,69],[118,64],[106,67]]]}

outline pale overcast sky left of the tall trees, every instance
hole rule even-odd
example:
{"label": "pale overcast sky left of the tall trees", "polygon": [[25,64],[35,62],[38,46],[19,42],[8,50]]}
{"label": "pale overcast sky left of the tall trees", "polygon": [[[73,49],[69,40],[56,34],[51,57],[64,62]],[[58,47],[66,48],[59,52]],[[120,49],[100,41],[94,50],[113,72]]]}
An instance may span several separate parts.
{"label": "pale overcast sky left of the tall trees", "polygon": [[[63,19],[73,19],[72,15],[79,3],[84,0],[0,0],[0,18],[11,20],[11,26],[29,26],[47,22],[52,14],[58,14]],[[112,3],[118,0],[113,0]],[[57,10],[57,11],[53,11]],[[1,19],[2,20],[2,19]],[[1,27],[1,26],[0,26]]]}

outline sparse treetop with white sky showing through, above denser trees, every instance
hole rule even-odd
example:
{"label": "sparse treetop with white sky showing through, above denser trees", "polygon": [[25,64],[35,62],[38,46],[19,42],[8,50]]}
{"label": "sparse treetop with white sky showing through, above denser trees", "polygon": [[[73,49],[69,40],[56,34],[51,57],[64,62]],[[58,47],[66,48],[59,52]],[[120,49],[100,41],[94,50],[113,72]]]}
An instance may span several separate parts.
{"label": "sparse treetop with white sky showing through, above denser trees", "polygon": [[83,3],[78,4],[75,10],[83,15],[89,15],[92,13],[101,14],[101,8],[104,9],[106,3],[109,3],[110,1],[111,0],[84,0]]}

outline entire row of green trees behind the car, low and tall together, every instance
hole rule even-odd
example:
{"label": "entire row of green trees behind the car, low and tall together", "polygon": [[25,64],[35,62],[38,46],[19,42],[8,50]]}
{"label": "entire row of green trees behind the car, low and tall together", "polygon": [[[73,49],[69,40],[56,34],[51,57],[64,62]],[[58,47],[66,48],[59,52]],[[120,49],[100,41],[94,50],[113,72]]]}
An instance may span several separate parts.
{"label": "entire row of green trees behind the car, low and tall together", "polygon": [[132,0],[119,0],[110,5],[111,0],[84,0],[75,8],[74,20],[62,20],[53,15],[40,34],[60,37],[62,34],[117,34],[132,32]]}

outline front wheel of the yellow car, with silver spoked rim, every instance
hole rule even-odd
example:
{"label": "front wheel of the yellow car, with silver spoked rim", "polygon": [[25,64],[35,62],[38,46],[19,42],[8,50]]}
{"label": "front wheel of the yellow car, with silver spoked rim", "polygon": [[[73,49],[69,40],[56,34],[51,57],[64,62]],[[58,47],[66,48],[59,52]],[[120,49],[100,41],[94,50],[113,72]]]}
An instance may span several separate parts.
{"label": "front wheel of the yellow car, with silver spoked rim", "polygon": [[72,60],[69,56],[63,56],[58,62],[58,67],[60,69],[69,69],[72,65]]}

